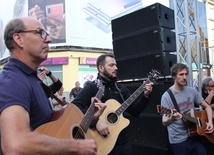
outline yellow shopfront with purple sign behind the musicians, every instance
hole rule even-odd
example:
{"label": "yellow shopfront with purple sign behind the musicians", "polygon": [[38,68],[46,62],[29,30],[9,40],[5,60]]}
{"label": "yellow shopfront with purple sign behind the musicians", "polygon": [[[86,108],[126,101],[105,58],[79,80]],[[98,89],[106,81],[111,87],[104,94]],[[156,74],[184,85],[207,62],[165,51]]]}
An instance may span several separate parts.
{"label": "yellow shopfront with purple sign behind the musicians", "polygon": [[[62,82],[64,92],[70,92],[79,81],[83,87],[86,81],[93,81],[97,77],[96,60],[103,52],[54,51],[41,66],[49,68]],[[49,78],[45,81],[50,84]]]}

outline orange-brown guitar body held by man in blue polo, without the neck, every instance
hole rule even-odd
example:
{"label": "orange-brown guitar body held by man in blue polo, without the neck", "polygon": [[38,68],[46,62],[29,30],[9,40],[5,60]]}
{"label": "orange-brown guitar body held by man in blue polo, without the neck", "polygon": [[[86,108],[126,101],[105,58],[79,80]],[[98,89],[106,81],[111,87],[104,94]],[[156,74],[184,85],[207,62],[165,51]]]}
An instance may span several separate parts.
{"label": "orange-brown guitar body held by man in blue polo, without the neck", "polygon": [[85,133],[80,127],[83,117],[82,111],[76,105],[68,104],[59,119],[43,124],[35,131],[63,139],[92,139],[90,131]]}

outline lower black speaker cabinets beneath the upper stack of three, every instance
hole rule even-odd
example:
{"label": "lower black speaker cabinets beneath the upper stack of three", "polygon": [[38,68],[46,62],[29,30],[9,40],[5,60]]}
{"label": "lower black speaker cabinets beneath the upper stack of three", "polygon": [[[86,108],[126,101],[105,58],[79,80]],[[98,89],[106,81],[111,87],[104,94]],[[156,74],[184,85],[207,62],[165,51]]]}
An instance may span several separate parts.
{"label": "lower black speaker cabinets beneath the upper stack of three", "polygon": [[[162,124],[162,117],[157,112],[162,94],[173,85],[173,79],[158,79],[153,85],[151,99],[139,117],[131,117],[127,127],[133,146],[134,155],[172,155],[169,147],[167,128]],[[120,82],[131,93],[142,85],[142,81]]]}

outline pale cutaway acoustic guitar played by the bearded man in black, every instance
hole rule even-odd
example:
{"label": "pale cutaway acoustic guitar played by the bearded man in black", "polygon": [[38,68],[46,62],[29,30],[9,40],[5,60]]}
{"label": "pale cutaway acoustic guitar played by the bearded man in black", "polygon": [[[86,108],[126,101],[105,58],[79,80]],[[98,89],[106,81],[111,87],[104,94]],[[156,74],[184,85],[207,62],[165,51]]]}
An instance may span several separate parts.
{"label": "pale cutaway acoustic guitar played by the bearded man in black", "polygon": [[99,143],[98,154],[106,155],[114,147],[116,140],[120,132],[126,128],[130,121],[123,117],[123,112],[135,101],[135,99],[144,91],[144,87],[147,83],[155,82],[160,73],[156,70],[152,70],[148,79],[143,83],[125,102],[120,104],[114,99],[106,101],[107,107],[103,114],[100,116],[100,120],[105,122],[110,130],[108,136],[100,135],[96,130],[90,130],[96,142]]}

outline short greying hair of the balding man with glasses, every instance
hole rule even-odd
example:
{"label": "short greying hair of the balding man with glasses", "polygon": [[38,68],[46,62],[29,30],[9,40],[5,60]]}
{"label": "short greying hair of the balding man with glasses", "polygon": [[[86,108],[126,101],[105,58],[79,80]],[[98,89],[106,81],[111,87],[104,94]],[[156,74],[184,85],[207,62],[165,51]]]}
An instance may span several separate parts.
{"label": "short greying hair of the balding man with glasses", "polygon": [[25,29],[24,23],[20,18],[11,20],[4,29],[4,42],[6,47],[11,51],[14,49],[13,34]]}

